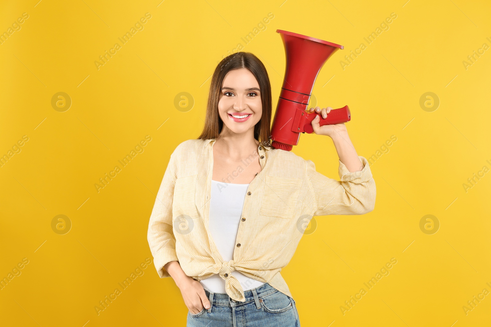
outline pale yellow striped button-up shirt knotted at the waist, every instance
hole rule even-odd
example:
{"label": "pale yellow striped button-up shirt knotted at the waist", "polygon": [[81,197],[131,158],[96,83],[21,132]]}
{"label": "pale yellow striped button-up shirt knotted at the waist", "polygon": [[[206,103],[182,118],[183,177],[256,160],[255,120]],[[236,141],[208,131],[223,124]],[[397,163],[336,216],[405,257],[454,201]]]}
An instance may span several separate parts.
{"label": "pale yellow striped button-up shirt knotted at the waist", "polygon": [[237,270],[293,297],[280,271],[290,262],[310,219],[374,209],[376,187],[368,161],[358,156],[363,169],[350,172],[338,160],[338,181],[292,151],[259,145],[243,160],[247,166],[259,159],[261,172],[247,188],[233,260],[225,261],[209,232],[215,141],[187,140],[170,155],[147,235],[158,274],[170,277],[164,265],[179,261],[184,273],[197,281],[218,274],[230,298],[245,301],[241,284],[231,274]]}

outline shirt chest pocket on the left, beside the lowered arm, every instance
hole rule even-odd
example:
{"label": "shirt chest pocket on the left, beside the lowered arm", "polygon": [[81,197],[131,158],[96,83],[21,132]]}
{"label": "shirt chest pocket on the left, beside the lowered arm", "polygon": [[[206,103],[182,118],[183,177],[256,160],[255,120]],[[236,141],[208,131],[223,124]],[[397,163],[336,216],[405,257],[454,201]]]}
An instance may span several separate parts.
{"label": "shirt chest pocket on the left, beside the lowered arm", "polygon": [[196,208],[197,177],[197,175],[193,175],[176,179],[172,201],[172,217],[174,221],[198,217]]}

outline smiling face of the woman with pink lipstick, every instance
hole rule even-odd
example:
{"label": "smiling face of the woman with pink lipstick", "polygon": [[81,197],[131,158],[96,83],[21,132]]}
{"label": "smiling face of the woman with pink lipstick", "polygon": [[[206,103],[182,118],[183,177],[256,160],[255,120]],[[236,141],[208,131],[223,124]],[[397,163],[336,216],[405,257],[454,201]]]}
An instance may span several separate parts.
{"label": "smiling face of the woman with pink lipstick", "polygon": [[218,115],[223,121],[223,130],[227,128],[233,133],[242,134],[252,129],[254,134],[254,126],[262,113],[261,92],[256,77],[246,68],[228,72],[218,96]]}

